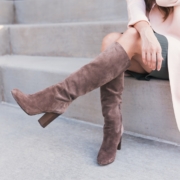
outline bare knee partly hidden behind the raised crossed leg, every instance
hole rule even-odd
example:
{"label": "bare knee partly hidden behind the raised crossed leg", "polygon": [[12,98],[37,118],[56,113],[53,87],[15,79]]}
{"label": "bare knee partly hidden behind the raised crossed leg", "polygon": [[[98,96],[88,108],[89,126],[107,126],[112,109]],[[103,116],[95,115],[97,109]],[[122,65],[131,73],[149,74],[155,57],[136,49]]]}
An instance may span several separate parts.
{"label": "bare knee partly hidden behind the raised crossed leg", "polygon": [[118,38],[121,37],[121,33],[109,33],[102,40],[102,51],[105,50],[110,44],[115,42]]}

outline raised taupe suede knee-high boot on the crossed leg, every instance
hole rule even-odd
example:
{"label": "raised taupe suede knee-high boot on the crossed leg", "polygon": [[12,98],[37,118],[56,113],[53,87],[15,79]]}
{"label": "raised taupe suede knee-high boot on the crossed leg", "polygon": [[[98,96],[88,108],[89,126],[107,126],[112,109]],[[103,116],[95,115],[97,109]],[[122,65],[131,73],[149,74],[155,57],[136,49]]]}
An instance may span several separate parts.
{"label": "raised taupe suede knee-high boot on the crossed leg", "polygon": [[34,94],[24,94],[18,89],[11,91],[19,106],[28,114],[45,113],[39,123],[47,126],[64,113],[78,96],[92,91],[124,72],[130,66],[130,59],[118,43],[114,42],[95,59],[82,66],[62,82]]}

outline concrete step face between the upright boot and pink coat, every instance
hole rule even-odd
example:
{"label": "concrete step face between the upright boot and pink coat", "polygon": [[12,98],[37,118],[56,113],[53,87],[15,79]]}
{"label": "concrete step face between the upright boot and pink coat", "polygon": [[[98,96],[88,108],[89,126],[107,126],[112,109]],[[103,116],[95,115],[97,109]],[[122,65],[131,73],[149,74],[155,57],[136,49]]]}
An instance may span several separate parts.
{"label": "concrete step face between the upright boot and pink coat", "polygon": [[169,81],[126,77],[122,109],[128,131],[180,143]]}

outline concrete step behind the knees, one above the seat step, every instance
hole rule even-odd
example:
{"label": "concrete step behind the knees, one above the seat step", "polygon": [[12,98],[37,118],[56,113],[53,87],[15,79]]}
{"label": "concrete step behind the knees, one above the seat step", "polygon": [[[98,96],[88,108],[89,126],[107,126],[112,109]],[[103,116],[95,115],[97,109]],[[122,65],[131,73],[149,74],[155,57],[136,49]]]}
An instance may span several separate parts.
{"label": "concrete step behind the knees, one above the seat step", "polygon": [[[4,30],[9,34],[9,41],[6,43],[11,54],[94,57],[99,54],[106,34],[123,32],[126,26],[127,22],[123,21],[104,21],[11,25],[4,26]],[[2,50],[0,49],[1,54],[5,51],[4,48],[2,46]]]}

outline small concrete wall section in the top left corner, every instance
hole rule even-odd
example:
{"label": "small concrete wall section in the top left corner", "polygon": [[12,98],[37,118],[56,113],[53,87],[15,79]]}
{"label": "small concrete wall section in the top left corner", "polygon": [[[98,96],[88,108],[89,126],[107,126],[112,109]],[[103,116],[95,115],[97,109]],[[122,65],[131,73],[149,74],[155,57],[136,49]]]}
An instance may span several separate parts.
{"label": "small concrete wall section in the top left corner", "polygon": [[0,1],[0,24],[13,24],[15,21],[14,1]]}

